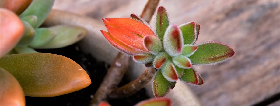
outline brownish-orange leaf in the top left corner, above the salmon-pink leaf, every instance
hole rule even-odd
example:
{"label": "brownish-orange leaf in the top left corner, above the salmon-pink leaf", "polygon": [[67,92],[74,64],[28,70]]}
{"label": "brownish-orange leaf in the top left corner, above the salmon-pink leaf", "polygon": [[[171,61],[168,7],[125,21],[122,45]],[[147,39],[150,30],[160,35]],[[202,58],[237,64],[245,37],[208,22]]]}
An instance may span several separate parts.
{"label": "brownish-orange leaf in the top left corner, above the salmon-pink leaf", "polygon": [[6,8],[20,15],[30,4],[32,0],[1,0],[0,7]]}

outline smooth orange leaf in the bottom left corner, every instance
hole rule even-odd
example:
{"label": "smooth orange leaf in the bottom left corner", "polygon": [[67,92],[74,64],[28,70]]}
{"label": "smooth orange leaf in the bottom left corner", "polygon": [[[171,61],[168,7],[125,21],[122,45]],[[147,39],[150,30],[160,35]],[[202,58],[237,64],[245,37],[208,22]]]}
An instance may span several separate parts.
{"label": "smooth orange leaf in the bottom left corner", "polygon": [[25,106],[23,89],[16,78],[0,68],[0,103],[1,106]]}

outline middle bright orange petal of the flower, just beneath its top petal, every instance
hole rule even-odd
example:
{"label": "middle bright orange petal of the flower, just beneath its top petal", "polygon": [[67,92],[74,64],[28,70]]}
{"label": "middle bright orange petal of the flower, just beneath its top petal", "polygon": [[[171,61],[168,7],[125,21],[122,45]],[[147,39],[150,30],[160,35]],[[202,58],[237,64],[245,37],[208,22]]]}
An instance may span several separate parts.
{"label": "middle bright orange petal of the flower, just beneath its top petal", "polygon": [[123,28],[112,27],[109,25],[105,26],[113,39],[121,41],[124,45],[128,45],[138,53],[149,53],[143,45],[143,38]]}

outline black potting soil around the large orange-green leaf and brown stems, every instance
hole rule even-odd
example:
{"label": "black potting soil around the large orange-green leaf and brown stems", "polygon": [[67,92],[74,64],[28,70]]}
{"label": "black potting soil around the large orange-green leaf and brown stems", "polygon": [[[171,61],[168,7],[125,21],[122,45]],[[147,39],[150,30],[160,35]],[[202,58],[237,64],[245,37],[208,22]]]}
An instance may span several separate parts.
{"label": "black potting soil around the large orange-green leaf and brown stems", "polygon": [[[88,87],[56,97],[29,97],[25,96],[26,106],[88,106],[91,98],[103,81],[110,65],[97,61],[90,54],[83,53],[77,44],[59,49],[37,49],[38,52],[53,53],[68,57],[78,63],[89,74],[92,84]],[[119,86],[129,83],[124,76]],[[107,100],[112,106],[133,106],[136,103],[149,99],[145,89],[141,89],[136,94],[121,99]]]}

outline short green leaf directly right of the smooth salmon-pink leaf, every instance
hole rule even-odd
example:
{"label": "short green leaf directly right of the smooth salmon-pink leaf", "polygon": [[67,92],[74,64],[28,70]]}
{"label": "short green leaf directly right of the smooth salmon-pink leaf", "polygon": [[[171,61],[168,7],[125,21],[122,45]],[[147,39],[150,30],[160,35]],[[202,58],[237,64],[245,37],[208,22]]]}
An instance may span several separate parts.
{"label": "short green leaf directly right of the smooth salmon-pink leaf", "polygon": [[35,36],[35,29],[27,22],[23,21],[24,33],[16,47],[27,47]]}

